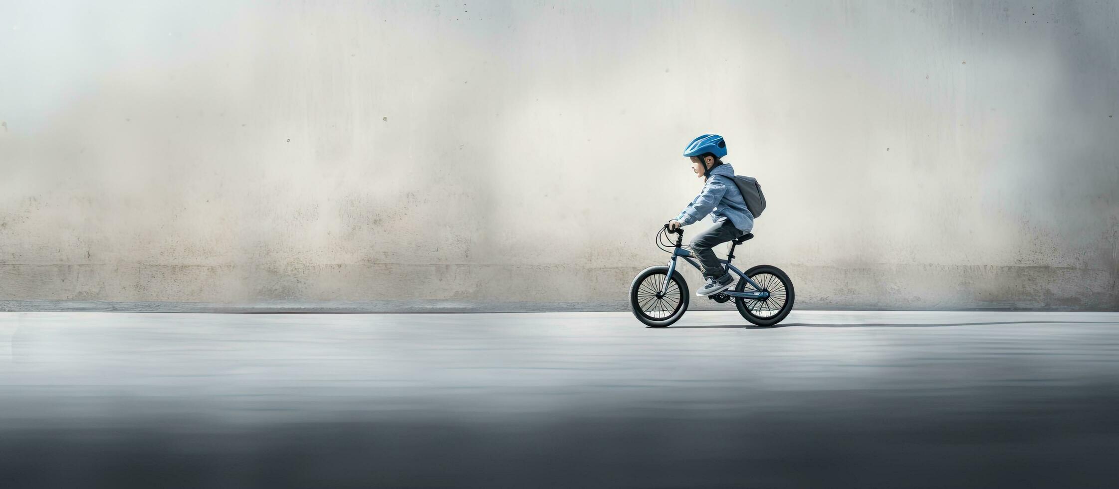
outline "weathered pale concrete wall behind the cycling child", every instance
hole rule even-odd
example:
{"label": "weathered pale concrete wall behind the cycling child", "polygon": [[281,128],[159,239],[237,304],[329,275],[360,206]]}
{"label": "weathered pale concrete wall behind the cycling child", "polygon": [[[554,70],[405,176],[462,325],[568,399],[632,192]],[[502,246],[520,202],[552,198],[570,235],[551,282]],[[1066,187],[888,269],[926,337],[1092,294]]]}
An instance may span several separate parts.
{"label": "weathered pale concrete wall behind the cycling child", "polygon": [[681,149],[718,132],[770,203],[739,256],[802,308],[1116,310],[1117,23],[1110,1],[4,2],[0,300],[620,308],[699,189]]}

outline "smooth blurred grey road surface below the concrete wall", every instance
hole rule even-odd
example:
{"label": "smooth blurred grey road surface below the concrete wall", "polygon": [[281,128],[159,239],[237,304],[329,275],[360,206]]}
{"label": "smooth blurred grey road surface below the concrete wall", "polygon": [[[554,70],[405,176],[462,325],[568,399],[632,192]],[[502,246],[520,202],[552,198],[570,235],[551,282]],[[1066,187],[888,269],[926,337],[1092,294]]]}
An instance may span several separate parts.
{"label": "smooth blurred grey road surface below the concrete wall", "polygon": [[1119,313],[0,313],[0,486],[1116,487]]}

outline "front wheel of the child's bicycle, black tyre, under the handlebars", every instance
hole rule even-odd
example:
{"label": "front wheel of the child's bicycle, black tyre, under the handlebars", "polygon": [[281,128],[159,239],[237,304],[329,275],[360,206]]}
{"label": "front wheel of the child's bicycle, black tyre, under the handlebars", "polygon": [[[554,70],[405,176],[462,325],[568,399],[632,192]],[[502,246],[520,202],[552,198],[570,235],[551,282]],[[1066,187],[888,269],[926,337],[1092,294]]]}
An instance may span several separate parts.
{"label": "front wheel of the child's bicycle, black tyre, under the handlebars", "polygon": [[638,321],[653,328],[676,322],[688,309],[688,283],[680,272],[665,286],[668,265],[650,266],[638,273],[630,284],[630,309]]}

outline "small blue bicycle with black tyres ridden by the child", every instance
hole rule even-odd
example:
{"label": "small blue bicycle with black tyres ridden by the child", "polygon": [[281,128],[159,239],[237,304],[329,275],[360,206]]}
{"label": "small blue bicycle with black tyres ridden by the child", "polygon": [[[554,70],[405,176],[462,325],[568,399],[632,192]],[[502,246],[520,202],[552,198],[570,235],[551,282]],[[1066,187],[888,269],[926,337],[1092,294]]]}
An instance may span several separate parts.
{"label": "small blue bicycle with black tyres ridden by the child", "polygon": [[[673,244],[668,236],[674,233],[678,235],[676,244]],[[734,291],[725,290],[707,298],[718,303],[733,299],[739,313],[746,321],[758,326],[773,326],[781,322],[792,310],[794,299],[792,281],[781,269],[773,265],[756,265],[742,272],[731,264],[735,246],[753,237],[753,233],[746,233],[735,238],[726,260],[720,260],[720,263],[726,265],[724,270],[741,278]],[[656,239],[657,247],[671,253],[673,257],[668,265],[650,266],[633,278],[630,284],[630,308],[638,321],[652,328],[665,328],[684,316],[690,299],[688,284],[684,275],[676,270],[676,258],[684,258],[696,270],[702,269],[695,261],[692,250],[683,245],[684,229],[673,231],[666,224],[657,232]],[[666,246],[671,246],[673,250]]]}

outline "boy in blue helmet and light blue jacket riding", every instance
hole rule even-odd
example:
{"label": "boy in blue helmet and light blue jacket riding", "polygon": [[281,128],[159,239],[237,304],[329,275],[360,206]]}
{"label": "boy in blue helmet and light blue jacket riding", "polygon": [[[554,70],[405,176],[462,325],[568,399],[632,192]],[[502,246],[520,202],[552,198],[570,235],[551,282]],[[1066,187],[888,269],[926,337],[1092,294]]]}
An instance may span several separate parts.
{"label": "boy in blue helmet and light blue jacket riding", "polygon": [[696,291],[696,295],[720,293],[734,284],[734,275],[723,271],[712,250],[754,227],[754,216],[746,208],[746,201],[734,184],[734,168],[724,163],[726,142],[718,134],[704,134],[688,143],[684,156],[692,159],[692,171],[704,178],[703,190],[684,208],[676,218],[668,222],[670,229],[679,229],[711,213],[715,225],[692,239],[692,252],[699,258],[703,276],[707,283]]}

